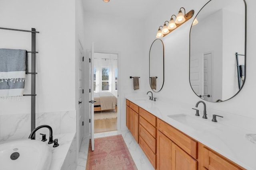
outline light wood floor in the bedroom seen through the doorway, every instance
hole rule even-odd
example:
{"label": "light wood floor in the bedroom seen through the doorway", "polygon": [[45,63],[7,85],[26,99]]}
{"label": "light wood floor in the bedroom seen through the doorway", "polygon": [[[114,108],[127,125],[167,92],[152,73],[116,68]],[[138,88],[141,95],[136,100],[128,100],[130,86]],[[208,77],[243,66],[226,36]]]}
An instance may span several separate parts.
{"label": "light wood floor in the bedroom seen through the doorway", "polygon": [[116,131],[116,130],[117,130],[117,118],[94,120],[94,133]]}

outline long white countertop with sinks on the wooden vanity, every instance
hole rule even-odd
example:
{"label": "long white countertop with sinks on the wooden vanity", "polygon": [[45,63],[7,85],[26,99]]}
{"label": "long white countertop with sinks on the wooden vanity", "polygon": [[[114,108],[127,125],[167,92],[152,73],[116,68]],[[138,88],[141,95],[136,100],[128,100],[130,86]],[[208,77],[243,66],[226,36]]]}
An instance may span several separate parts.
{"label": "long white countertop with sinks on the wooden vanity", "polygon": [[[217,117],[218,122],[212,122],[210,112],[207,113],[208,119],[202,119],[202,109],[200,109],[200,117],[195,116],[195,110],[192,109],[195,108],[195,104],[188,105],[161,99],[153,102],[148,100],[147,95],[141,94],[126,94],[125,98],[240,166],[248,170],[256,170],[256,144],[246,139],[246,134],[256,133],[256,129],[252,128],[255,127],[255,122],[253,123],[252,120],[243,119],[240,126],[236,126],[239,124],[237,123],[239,117],[219,111],[218,115],[223,115],[224,118]],[[198,108],[203,106],[201,105]],[[208,111],[207,107],[206,110]],[[188,123],[191,125],[186,125],[168,117],[179,114],[185,114],[190,118],[189,121],[194,121],[194,125],[192,121]],[[253,126],[242,125],[246,122],[253,123]],[[244,129],[243,126],[246,128]]]}

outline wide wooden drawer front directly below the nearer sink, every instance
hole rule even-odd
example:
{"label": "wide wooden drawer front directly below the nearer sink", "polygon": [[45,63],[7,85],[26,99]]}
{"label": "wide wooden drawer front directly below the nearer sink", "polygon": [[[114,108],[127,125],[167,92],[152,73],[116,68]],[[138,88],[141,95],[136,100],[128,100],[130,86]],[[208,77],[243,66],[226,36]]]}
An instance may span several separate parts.
{"label": "wide wooden drawer front directly below the nearer sink", "polygon": [[184,133],[178,131],[168,123],[157,119],[157,128],[164,133],[169,139],[171,139],[176,145],[185,150],[193,158],[198,157],[198,142],[188,137]]}

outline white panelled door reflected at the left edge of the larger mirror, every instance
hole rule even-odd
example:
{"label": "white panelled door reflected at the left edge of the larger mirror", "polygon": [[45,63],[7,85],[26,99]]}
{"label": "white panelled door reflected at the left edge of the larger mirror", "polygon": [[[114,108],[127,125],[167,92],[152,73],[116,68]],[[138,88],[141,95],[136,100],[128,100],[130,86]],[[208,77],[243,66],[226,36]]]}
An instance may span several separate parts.
{"label": "white panelled door reflected at the left edge of the larger mirror", "polygon": [[190,84],[197,96],[203,96],[202,54],[190,58]]}

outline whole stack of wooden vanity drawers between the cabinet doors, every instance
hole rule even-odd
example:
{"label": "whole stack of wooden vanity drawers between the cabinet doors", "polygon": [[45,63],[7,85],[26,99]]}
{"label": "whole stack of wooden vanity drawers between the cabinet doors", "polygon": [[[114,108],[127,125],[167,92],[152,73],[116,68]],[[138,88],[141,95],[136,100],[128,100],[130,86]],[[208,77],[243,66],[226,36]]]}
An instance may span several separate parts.
{"label": "whole stack of wooden vanity drawers between the cabinet doors", "polygon": [[139,115],[139,145],[156,169],[156,117],[141,107]]}

